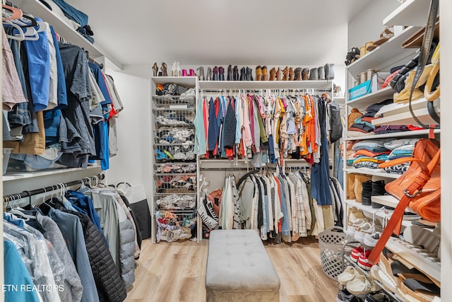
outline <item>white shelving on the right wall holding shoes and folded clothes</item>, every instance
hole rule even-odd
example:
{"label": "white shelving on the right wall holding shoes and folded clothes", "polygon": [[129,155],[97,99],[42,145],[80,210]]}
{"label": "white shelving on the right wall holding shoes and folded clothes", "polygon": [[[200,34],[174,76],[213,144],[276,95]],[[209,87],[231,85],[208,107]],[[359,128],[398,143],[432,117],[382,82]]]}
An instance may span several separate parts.
{"label": "white shelving on the right wall holding shoes and folded clothes", "polygon": [[[347,73],[347,84],[349,88],[352,87],[353,83],[356,81],[359,73],[367,71],[367,69],[376,69],[379,71],[389,71],[391,66],[403,65],[408,62],[412,57],[414,57],[417,49],[403,49],[400,45],[404,40],[410,37],[419,26],[424,26],[427,23],[427,12],[429,8],[429,1],[422,0],[407,0],[404,4],[401,4],[395,11],[393,11],[388,17],[383,20],[383,25],[403,25],[406,27],[401,33],[395,35],[387,42],[383,43],[375,50],[372,50],[364,57],[353,62],[346,68]],[[348,91],[348,88],[347,88]],[[345,102],[346,112],[350,112],[351,108],[357,108],[359,111],[364,112],[364,110],[373,103],[379,103],[386,98],[392,98],[393,91],[391,88],[384,88],[379,91],[369,93],[360,98],[354,100],[347,100]],[[413,111],[418,118],[427,124],[436,124],[429,117],[427,112],[427,100],[420,99],[413,102]],[[439,112],[439,99],[435,100],[435,110]],[[409,110],[408,104],[393,104],[390,110],[383,113],[383,118],[372,122],[372,124],[416,124],[415,120],[412,118]],[[396,132],[391,134],[381,134],[381,135],[367,135],[362,137],[345,137],[345,141],[357,141],[361,139],[388,139],[388,138],[403,138],[403,137],[427,137],[429,130],[418,130],[409,132]],[[434,134],[439,136],[441,134],[440,129],[435,129]],[[344,154],[346,153],[346,147],[344,146]],[[400,177],[400,175],[391,175],[385,172],[371,171],[370,169],[355,169],[355,168],[344,168],[344,187],[347,187],[347,174],[348,173],[359,173],[364,175],[372,175],[378,180],[386,180],[391,182],[392,180]],[[347,207],[357,207],[362,209],[364,214],[368,216],[375,216],[383,219],[386,214],[378,209],[374,209],[369,206],[363,206],[360,203],[355,202],[355,200],[345,199]],[[378,202],[389,207],[396,207],[398,204],[398,199],[392,196],[372,196],[373,202]],[[410,226],[411,222],[404,220],[403,226]],[[347,226],[347,221],[345,221],[345,226]],[[386,244],[386,248],[395,252],[400,257],[408,262],[413,267],[420,269],[420,271],[428,274],[434,280],[441,281],[441,265],[439,262],[433,262],[419,253],[413,251],[403,240],[398,238],[390,238]]]}

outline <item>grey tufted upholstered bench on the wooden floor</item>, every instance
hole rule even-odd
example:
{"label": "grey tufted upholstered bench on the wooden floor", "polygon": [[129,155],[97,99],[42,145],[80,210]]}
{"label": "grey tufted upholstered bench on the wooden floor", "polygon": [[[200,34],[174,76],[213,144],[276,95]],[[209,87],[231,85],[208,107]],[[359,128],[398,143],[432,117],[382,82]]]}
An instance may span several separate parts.
{"label": "grey tufted upholstered bench on the wooden floor", "polygon": [[216,230],[209,236],[206,299],[279,301],[280,279],[254,230]]}

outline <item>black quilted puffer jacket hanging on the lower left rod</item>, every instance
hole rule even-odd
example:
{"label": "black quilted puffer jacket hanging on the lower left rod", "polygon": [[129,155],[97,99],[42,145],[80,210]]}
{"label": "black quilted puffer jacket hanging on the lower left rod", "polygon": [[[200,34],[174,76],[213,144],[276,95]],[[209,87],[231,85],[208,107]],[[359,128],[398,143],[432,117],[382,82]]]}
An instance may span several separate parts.
{"label": "black quilted puffer jacket hanging on the lower left rod", "polygon": [[99,300],[101,302],[124,301],[127,296],[126,288],[121,275],[114,265],[112,255],[108,250],[102,233],[85,214],[64,209],[61,206],[59,209],[78,216],[81,221],[86,250],[88,251],[88,258],[93,270]]}

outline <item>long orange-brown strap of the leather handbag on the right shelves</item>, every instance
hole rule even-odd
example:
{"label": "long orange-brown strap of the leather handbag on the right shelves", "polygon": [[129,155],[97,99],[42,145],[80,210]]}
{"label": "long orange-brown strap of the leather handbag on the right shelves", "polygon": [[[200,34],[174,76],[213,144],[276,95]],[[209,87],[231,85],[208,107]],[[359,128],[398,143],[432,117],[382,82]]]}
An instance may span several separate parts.
{"label": "long orange-brown strap of the leather handbag on the right shelves", "polygon": [[[396,235],[400,234],[400,228],[402,226],[402,219],[403,214],[405,213],[406,207],[408,207],[408,204],[410,203],[412,197],[415,197],[417,194],[420,194],[422,192],[422,187],[427,183],[427,181],[430,179],[430,175],[432,175],[433,169],[438,163],[439,158],[441,156],[441,149],[439,149],[435,156],[432,158],[432,161],[430,161],[427,165],[417,159],[417,158],[407,158],[408,161],[415,160],[416,163],[420,164],[421,171],[420,173],[417,173],[415,178],[412,180],[411,185],[409,185],[403,192],[405,193],[403,197],[400,199],[400,201],[397,204],[396,209],[394,209],[394,212],[391,216],[391,219],[389,219],[388,224],[386,225],[386,228],[384,228],[383,233],[381,233],[381,236],[379,240],[377,241],[375,248],[371,251],[369,255],[369,262],[372,265],[375,265],[377,262],[379,262],[381,251],[383,251],[383,248],[385,247],[386,243],[389,240],[389,237],[391,237],[392,233],[396,233]],[[396,165],[400,162],[406,162],[404,158],[397,158],[393,161],[389,161],[388,163],[393,163],[393,165]],[[384,164],[388,164],[384,163]],[[422,164],[421,164],[422,163]],[[381,163],[379,167],[383,165]],[[391,165],[391,164],[389,164]],[[387,165],[387,166],[389,166]]]}

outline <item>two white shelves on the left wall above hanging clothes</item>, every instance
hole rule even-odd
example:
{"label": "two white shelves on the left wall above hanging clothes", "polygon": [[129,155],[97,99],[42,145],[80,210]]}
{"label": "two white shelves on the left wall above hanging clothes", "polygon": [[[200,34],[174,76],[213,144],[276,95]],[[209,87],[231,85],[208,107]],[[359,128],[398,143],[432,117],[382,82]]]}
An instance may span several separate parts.
{"label": "two white shelves on the left wall above hanging clothes", "polygon": [[[66,41],[83,47],[84,50],[88,50],[90,57],[95,59],[96,62],[102,63],[105,66],[105,59],[108,59],[118,69],[122,69],[119,60],[103,50],[100,45],[94,45],[88,42],[80,33],[68,25],[62,18],[50,11],[39,0],[11,0],[11,3],[26,13],[31,13],[35,17],[42,18],[43,21],[52,25],[54,30],[64,37]],[[23,173],[8,171],[1,179],[4,186],[4,194],[13,194],[22,192],[23,190],[47,187],[59,182],[70,182],[100,173],[102,173],[100,165],[89,165],[86,169],[66,168]]]}

